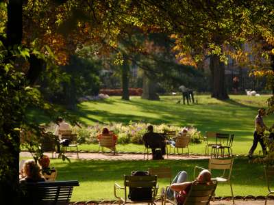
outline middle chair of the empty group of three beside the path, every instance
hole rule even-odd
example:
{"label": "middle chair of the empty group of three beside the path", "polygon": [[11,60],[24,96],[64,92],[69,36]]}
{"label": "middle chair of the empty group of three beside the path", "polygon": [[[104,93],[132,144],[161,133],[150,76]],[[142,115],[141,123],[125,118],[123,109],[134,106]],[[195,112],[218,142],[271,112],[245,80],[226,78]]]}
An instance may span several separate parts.
{"label": "middle chair of the empty group of three beside the path", "polygon": [[[233,137],[234,138],[234,137]],[[232,139],[233,139],[232,138]],[[218,158],[219,151],[221,150],[221,157],[225,156],[225,147],[229,146],[229,134],[226,133],[216,133],[216,143],[212,145],[211,158]]]}

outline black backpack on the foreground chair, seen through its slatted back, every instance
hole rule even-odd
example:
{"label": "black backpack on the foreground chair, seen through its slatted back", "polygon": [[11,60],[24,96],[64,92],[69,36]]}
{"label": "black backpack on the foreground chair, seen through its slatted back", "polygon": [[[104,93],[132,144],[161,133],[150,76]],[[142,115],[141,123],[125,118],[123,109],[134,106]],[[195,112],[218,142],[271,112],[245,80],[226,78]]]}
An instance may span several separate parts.
{"label": "black backpack on the foreground chair, seen through its slatted back", "polygon": [[[149,176],[148,171],[132,171],[131,176]],[[152,190],[151,188],[138,188],[138,187],[129,187],[129,200],[132,201],[145,201],[152,199]]]}

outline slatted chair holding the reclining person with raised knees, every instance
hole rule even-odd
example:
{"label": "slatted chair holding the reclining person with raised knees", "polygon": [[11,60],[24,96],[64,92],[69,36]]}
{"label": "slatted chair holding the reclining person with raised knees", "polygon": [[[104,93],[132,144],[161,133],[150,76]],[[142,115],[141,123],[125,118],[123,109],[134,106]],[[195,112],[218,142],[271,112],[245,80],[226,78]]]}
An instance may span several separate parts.
{"label": "slatted chair holding the reclining person with raised knees", "polygon": [[[212,180],[207,183],[201,183],[198,180],[195,180],[192,182],[190,190],[188,191],[188,194],[186,195],[186,200],[184,200],[184,204],[195,204],[195,205],[207,205],[210,204],[210,200],[212,196],[214,195],[215,189],[217,186],[217,181]],[[170,187],[167,187],[167,189],[170,189]],[[166,192],[165,192],[166,193]],[[166,201],[168,201],[171,204],[177,204],[175,199],[168,200],[166,194],[164,195],[164,204],[166,204]]]}

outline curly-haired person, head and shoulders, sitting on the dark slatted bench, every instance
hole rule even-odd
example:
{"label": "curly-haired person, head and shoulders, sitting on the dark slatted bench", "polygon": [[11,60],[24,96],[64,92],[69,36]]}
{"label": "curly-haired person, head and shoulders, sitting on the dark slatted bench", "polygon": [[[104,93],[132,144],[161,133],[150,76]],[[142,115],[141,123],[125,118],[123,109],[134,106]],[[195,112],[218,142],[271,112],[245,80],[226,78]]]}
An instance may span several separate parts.
{"label": "curly-haired person, head and shoulders, sitting on the dark slatted bench", "polygon": [[45,178],[43,178],[41,174],[41,167],[38,164],[36,164],[33,159],[25,161],[23,165],[22,178],[19,182],[45,182]]}

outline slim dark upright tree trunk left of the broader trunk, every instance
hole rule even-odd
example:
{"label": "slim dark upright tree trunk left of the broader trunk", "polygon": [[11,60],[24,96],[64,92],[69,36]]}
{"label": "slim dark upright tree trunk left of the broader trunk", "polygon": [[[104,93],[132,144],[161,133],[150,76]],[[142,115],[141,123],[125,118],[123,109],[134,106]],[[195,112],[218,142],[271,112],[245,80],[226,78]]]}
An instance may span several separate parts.
{"label": "slim dark upright tree trunk left of the broader trunk", "polygon": [[129,100],[129,64],[127,59],[124,59],[122,69],[122,99]]}

